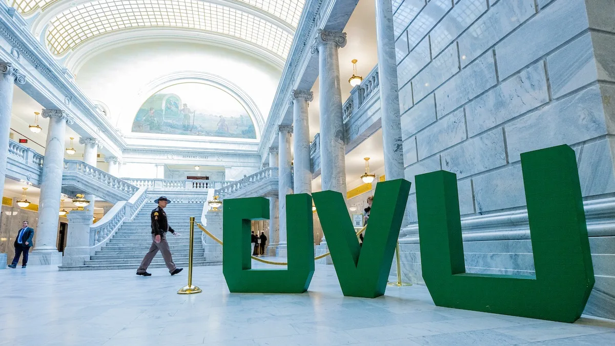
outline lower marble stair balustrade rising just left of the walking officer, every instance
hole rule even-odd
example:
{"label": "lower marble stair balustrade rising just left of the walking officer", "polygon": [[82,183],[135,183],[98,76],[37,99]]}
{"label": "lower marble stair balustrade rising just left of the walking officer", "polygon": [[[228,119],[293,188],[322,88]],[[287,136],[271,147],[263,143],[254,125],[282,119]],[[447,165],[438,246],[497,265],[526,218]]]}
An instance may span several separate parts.
{"label": "lower marble stair balustrade rising just left of the walking officer", "polygon": [[117,202],[102,219],[90,226],[90,254],[100,250],[124,222],[135,218],[147,201],[146,191],[146,188],[140,188],[128,201]]}

